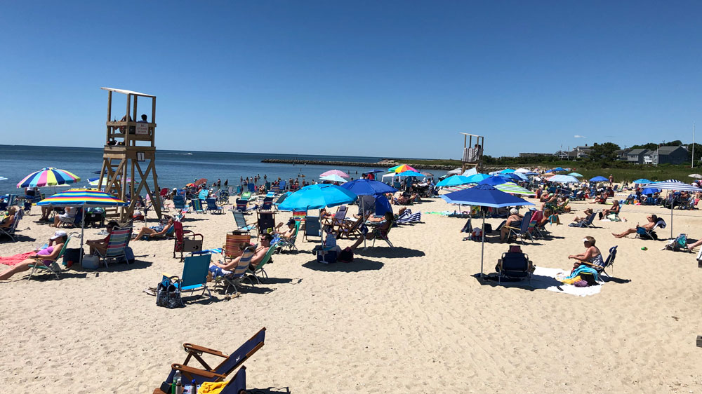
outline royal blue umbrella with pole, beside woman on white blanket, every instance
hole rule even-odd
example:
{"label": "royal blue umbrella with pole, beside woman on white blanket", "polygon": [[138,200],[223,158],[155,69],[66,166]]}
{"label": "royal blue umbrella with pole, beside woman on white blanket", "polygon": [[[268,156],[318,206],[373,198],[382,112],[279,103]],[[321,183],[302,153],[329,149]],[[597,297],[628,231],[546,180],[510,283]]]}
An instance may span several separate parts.
{"label": "royal blue umbrella with pole, beside woman on white blanket", "polygon": [[[494,186],[479,184],[472,189],[463,189],[441,196],[447,203],[461,205],[476,205],[479,207],[503,208],[517,205],[534,205],[529,201],[512,196],[504,191],[495,189]],[[482,246],[480,250],[480,278],[483,276],[483,259],[485,251],[485,212],[483,212]]]}

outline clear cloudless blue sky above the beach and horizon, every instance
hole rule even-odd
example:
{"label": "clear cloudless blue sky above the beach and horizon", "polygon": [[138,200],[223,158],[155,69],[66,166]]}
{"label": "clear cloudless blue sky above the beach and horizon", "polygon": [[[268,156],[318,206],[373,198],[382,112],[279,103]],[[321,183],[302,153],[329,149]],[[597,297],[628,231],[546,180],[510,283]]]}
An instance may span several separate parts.
{"label": "clear cloudless blue sky above the beach and horizon", "polygon": [[461,131],[491,156],[689,142],[701,15],[699,1],[5,1],[0,135],[101,147],[110,86],[157,95],[163,149],[459,158]]}

